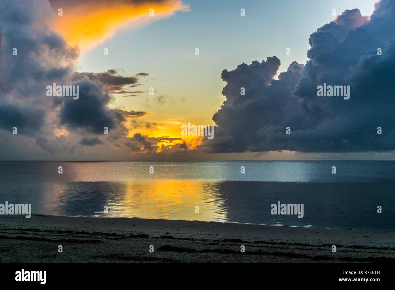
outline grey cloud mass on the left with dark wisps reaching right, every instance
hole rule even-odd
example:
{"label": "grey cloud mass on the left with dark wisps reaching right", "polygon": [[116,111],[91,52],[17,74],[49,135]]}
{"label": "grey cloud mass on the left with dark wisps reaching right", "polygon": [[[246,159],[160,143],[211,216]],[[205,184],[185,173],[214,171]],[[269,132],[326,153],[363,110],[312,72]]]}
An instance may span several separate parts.
{"label": "grey cloud mass on the left with dark wisps reaching right", "polygon": [[[94,135],[103,134],[104,127],[113,133],[109,140],[126,137],[124,123],[149,112],[110,109],[114,97],[109,92],[139,85],[148,74],[75,72],[79,49],[51,30],[50,14],[45,0],[0,2],[0,127],[10,134],[17,127],[18,137],[34,138],[51,154],[75,152],[78,135],[84,136],[82,145],[98,144]],[[79,99],[48,97],[46,87],[53,83],[79,86]]]}

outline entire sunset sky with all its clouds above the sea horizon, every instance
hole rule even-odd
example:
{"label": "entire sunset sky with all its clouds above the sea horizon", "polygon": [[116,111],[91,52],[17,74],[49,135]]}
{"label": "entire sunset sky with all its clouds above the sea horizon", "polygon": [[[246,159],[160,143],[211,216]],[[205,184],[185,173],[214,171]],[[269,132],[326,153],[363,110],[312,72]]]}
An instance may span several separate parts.
{"label": "entire sunset sky with all its clouds above the sea horizon", "polygon": [[[394,6],[4,1],[0,159],[393,160]],[[45,95],[54,82],[79,99]],[[318,97],[324,82],[350,99]]]}

